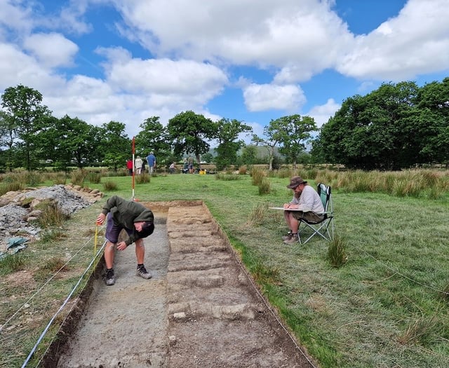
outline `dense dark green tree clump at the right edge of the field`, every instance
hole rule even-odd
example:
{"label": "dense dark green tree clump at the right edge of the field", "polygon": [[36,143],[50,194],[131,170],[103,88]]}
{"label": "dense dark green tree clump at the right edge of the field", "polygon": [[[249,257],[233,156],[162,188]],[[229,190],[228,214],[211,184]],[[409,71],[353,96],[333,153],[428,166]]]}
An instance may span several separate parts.
{"label": "dense dark green tree clump at the right edge of the field", "polygon": [[312,153],[321,162],[363,170],[449,163],[449,78],[383,83],[344,100],[321,127]]}

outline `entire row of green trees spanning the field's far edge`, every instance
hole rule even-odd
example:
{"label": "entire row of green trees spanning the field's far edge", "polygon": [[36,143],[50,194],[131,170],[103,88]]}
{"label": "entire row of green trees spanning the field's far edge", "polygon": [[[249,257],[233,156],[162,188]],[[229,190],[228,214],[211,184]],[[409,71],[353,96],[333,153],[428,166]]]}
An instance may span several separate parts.
{"label": "entire row of green trees spanning the field's far edge", "polygon": [[[1,95],[0,168],[36,170],[52,165],[67,170],[102,165],[123,168],[131,155],[126,125],[90,125],[68,115],[55,118],[39,91],[18,85]],[[218,170],[257,161],[266,149],[269,170],[278,163],[337,163],[363,170],[398,170],[422,163],[449,162],[449,78],[419,88],[414,82],[384,83],[368,95],[344,100],[321,129],[314,118],[298,114],[273,119],[262,135],[236,119],[211,121],[183,111],[166,126],[159,116],[140,125],[135,154],[154,151],[159,163],[192,155],[213,161]],[[314,132],[317,135],[314,135]],[[243,135],[250,136],[245,144]],[[211,155],[211,144],[215,144]],[[311,151],[306,151],[311,144]]]}

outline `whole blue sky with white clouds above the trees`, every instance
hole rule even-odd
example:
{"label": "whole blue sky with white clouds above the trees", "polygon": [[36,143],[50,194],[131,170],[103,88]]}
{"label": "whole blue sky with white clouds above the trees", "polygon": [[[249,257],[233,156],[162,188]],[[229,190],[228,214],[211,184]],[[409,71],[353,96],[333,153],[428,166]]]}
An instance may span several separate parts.
{"label": "whole blue sky with white clouds above the trees", "polygon": [[449,76],[448,19],[448,0],[0,0],[0,93],[128,137],[189,110],[321,127],[382,83]]}

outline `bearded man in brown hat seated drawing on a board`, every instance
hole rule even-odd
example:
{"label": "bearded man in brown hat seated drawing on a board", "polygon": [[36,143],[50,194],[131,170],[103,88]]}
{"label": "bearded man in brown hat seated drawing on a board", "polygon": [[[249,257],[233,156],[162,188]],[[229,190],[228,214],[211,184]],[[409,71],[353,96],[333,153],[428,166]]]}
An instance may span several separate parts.
{"label": "bearded man in brown hat seated drawing on a board", "polygon": [[[283,243],[293,244],[297,242],[297,229],[300,226],[300,219],[311,222],[319,222],[323,219],[324,207],[321,198],[315,189],[304,182],[301,177],[292,177],[287,188],[293,189],[293,200],[285,203],[283,207],[284,218],[290,233],[283,237]],[[289,211],[289,209],[295,209]]]}

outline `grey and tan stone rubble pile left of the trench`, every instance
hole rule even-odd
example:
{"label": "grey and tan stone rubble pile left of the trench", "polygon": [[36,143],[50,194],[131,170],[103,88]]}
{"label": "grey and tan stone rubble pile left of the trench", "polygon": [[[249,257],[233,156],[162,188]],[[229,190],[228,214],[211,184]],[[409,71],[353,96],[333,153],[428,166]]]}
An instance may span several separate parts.
{"label": "grey and tan stone rubble pile left of the trench", "polygon": [[6,248],[8,239],[23,236],[30,240],[39,238],[41,229],[33,220],[39,218],[36,206],[51,200],[64,214],[86,208],[102,198],[98,189],[82,188],[72,184],[59,184],[45,188],[27,188],[10,191],[0,197],[0,251]]}

